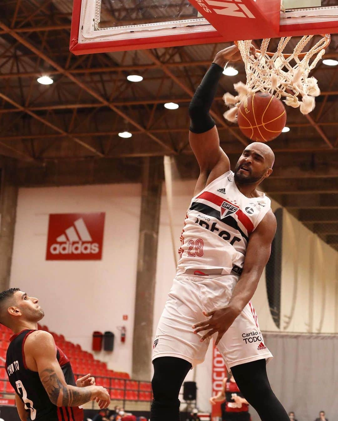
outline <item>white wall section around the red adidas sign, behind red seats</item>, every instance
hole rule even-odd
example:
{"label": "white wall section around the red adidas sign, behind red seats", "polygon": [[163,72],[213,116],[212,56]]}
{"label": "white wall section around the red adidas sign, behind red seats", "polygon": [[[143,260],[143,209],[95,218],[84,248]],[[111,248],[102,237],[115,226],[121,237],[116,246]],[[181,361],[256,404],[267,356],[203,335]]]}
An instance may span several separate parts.
{"label": "white wall section around the red adidas sign, behind red seats", "polygon": [[[115,333],[112,353],[96,353],[131,372],[140,184],[19,189],[11,287],[40,297],[43,323],[91,350],[94,330]],[[46,261],[49,213],[105,212],[101,261]],[[129,320],[123,321],[123,314]],[[117,326],[126,325],[121,344]]]}

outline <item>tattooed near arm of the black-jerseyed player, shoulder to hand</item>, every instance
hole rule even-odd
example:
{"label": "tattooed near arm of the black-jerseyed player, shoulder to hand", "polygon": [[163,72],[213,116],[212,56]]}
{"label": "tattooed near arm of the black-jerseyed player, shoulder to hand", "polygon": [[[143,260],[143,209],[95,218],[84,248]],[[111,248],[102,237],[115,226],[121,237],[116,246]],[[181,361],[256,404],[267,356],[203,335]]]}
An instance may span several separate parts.
{"label": "tattooed near arm of the black-jerseyed player, shoulder to hand", "polygon": [[35,361],[41,383],[54,405],[80,406],[94,399],[100,408],[107,408],[110,404],[109,393],[101,386],[76,387],[66,383],[50,333],[38,330],[29,335],[24,353],[26,360],[30,357]]}

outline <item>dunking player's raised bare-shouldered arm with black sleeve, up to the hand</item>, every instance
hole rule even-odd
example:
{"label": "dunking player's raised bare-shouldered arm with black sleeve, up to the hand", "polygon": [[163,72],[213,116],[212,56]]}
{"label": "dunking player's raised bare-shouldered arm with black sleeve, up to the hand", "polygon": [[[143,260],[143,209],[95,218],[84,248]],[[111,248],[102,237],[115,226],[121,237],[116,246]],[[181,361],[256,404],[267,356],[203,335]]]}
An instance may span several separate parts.
{"label": "dunking player's raised bare-shouldered arm with black sleeve, up to the hand", "polygon": [[209,112],[225,64],[228,61],[238,61],[240,59],[241,55],[236,45],[219,51],[201,84],[196,89],[189,105],[191,120],[189,141],[191,149],[199,163],[201,173],[209,176],[216,169],[215,167],[220,167],[217,174],[213,177],[214,179],[229,171],[230,163],[228,157],[220,148],[220,139],[215,121]]}

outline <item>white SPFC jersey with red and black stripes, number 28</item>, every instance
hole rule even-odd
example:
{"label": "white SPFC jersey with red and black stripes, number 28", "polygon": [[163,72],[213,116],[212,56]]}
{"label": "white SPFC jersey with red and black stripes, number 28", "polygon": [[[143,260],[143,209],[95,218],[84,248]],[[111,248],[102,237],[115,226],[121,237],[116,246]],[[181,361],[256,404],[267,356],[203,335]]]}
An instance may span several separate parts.
{"label": "white SPFC jersey with red and black stripes, number 28", "polygon": [[241,274],[250,234],[271,206],[264,193],[246,197],[233,172],[212,181],[191,200],[179,249],[177,274],[187,269],[220,269]]}

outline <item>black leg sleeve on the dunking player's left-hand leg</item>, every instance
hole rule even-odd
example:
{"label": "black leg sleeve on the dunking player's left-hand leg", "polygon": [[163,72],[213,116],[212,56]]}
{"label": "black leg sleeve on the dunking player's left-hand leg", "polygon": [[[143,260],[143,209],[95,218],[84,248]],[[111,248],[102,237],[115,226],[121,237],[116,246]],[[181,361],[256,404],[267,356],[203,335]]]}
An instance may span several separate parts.
{"label": "black leg sleeve on the dunking player's left-hand leg", "polygon": [[179,421],[178,395],[183,380],[191,368],[188,361],[175,357],[158,357],[153,361],[153,403],[150,421]]}

